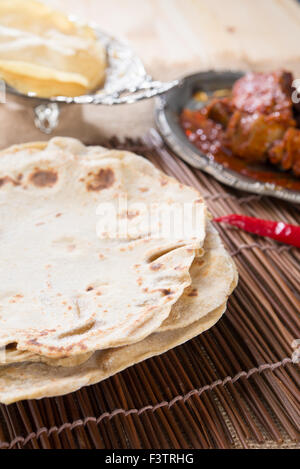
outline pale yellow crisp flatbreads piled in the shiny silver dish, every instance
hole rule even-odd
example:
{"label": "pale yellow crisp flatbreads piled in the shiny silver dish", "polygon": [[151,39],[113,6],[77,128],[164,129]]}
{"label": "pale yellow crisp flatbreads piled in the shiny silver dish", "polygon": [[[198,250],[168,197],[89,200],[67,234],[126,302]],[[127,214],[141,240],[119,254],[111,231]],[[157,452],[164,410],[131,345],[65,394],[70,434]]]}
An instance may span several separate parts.
{"label": "pale yellow crisp flatbreads piled in the shiny silver dish", "polygon": [[0,78],[39,97],[99,88],[106,51],[88,26],[35,0],[0,2]]}

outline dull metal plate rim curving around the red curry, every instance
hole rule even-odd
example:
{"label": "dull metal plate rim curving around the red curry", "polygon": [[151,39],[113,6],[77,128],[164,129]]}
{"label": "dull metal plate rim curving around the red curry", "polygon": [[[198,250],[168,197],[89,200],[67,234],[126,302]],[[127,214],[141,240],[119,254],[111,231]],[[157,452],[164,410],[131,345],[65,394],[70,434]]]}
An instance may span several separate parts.
{"label": "dull metal plate rim curving around the red curry", "polygon": [[[184,78],[178,87],[156,100],[156,123],[170,148],[191,166],[206,171],[218,181],[228,186],[255,194],[269,195],[294,203],[300,203],[300,192],[263,183],[243,176],[223,165],[210,160],[186,138],[179,123],[179,116],[192,99],[195,91],[212,93],[220,89],[229,89],[243,76],[242,72],[208,71]],[[276,169],[274,169],[276,171]]]}

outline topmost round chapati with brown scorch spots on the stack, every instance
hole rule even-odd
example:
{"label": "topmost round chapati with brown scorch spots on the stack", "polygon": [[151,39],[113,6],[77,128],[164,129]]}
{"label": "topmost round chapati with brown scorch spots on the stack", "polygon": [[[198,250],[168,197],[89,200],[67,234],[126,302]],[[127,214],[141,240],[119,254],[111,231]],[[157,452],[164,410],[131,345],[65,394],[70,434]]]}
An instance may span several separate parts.
{"label": "topmost round chapati with brown scorch spots on the stack", "polygon": [[[169,233],[162,206],[177,207]],[[0,346],[65,358],[147,337],[191,284],[205,215],[197,191],[128,152],[66,138],[2,152]]]}

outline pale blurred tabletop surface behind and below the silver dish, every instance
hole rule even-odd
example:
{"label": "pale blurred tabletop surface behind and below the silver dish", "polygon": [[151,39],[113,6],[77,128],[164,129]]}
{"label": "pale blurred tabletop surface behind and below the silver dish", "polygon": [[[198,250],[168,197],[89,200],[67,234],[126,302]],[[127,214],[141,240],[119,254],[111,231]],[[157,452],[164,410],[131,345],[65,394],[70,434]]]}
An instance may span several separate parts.
{"label": "pale blurred tabletop surface behind and below the silver dish", "polygon": [[[45,0],[128,41],[157,79],[205,69],[286,68],[300,77],[300,7],[295,0]],[[0,106],[0,147],[47,139],[27,102]],[[153,101],[113,109],[62,109],[54,135],[97,143],[110,135],[143,135]],[[16,135],[15,128],[18,128]]]}

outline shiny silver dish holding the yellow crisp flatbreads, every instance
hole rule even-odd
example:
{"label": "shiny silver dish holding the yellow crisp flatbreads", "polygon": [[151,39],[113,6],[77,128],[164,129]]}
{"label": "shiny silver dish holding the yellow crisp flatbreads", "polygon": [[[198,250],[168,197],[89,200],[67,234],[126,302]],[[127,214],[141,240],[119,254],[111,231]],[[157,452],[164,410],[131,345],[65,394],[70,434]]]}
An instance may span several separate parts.
{"label": "shiny silver dish holding the yellow crisp flatbreads", "polygon": [[[76,18],[70,18],[79,23]],[[29,99],[42,101],[44,104],[131,104],[142,99],[152,98],[165,93],[178,84],[178,81],[163,83],[154,81],[144,68],[142,61],[129,45],[102,32],[96,25],[90,24],[107,51],[107,75],[104,87],[93,93],[77,97],[57,96],[50,99],[38,98],[34,93],[22,94],[7,86],[9,93]]]}

